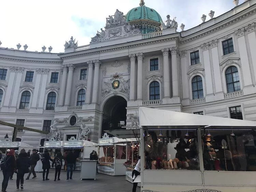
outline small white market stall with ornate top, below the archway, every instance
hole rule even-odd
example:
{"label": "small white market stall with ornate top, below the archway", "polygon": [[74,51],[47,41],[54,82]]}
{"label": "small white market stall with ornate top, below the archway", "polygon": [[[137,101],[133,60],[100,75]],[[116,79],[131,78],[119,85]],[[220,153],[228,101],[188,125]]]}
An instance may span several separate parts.
{"label": "small white market stall with ornate top, below the archway", "polygon": [[125,139],[109,137],[104,133],[99,139],[99,163],[98,172],[106,175],[125,175],[126,167],[123,165],[126,161]]}

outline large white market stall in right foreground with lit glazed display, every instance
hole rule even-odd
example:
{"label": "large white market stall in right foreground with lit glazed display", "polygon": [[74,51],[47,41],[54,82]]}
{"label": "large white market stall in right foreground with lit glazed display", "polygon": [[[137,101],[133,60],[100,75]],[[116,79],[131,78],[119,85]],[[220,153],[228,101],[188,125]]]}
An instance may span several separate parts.
{"label": "large white market stall in right foreground with lit glazed display", "polygon": [[256,191],[256,122],[145,107],[139,119],[142,191]]}

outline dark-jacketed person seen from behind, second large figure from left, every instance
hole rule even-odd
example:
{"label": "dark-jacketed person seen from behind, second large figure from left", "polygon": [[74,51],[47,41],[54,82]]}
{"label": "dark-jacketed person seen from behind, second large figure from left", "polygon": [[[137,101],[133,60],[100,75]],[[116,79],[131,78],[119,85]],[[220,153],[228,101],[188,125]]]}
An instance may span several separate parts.
{"label": "dark-jacketed person seen from behind, second large figure from left", "polygon": [[28,158],[28,153],[26,153],[25,149],[20,150],[20,153],[18,157],[16,158],[16,167],[17,167],[17,190],[19,189],[19,183],[20,183],[20,189],[23,190],[23,184],[24,184],[24,174],[29,173],[29,167],[30,167],[30,159]]}

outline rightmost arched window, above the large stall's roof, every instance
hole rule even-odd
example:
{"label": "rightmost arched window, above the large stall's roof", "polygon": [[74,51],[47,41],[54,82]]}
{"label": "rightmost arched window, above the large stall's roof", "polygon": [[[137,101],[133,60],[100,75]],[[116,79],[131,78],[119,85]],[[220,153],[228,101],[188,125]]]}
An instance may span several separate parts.
{"label": "rightmost arched window, above the large stall's roof", "polygon": [[240,91],[239,74],[237,68],[235,66],[231,66],[226,70],[225,74],[228,93]]}

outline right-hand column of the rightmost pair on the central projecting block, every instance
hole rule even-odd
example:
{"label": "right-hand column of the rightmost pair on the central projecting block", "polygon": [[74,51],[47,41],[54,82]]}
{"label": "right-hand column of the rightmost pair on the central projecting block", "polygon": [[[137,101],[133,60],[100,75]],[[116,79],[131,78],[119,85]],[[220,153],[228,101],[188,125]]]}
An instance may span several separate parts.
{"label": "right-hand column of the rightmost pair on the central projecting block", "polygon": [[172,97],[179,97],[179,78],[177,63],[177,47],[171,48],[172,55]]}

